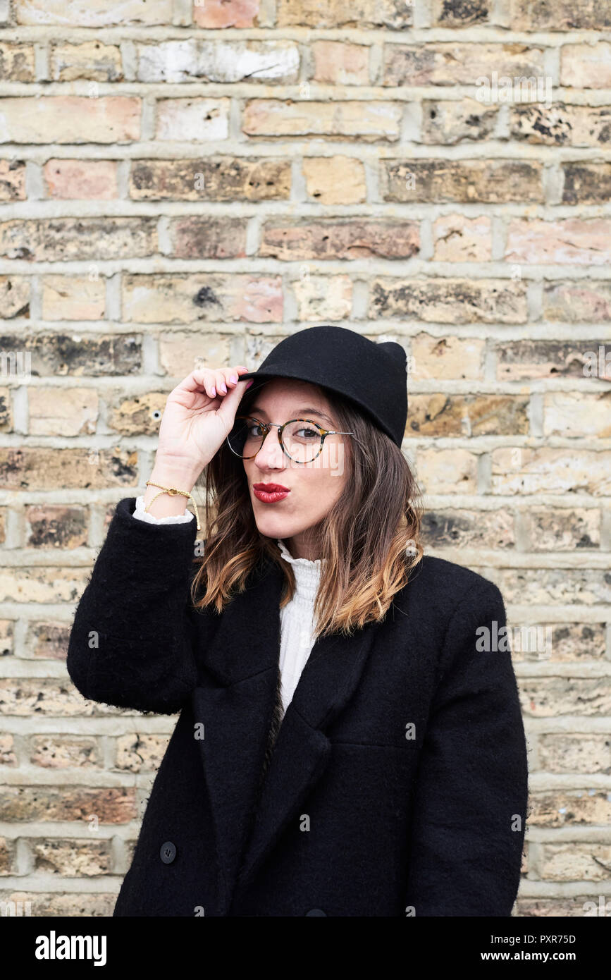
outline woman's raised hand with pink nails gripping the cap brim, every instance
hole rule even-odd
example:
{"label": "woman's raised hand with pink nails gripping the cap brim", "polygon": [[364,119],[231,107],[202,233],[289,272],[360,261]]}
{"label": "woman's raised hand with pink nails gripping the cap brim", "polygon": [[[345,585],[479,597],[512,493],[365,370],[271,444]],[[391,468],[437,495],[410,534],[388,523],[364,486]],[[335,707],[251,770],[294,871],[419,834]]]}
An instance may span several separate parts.
{"label": "woman's raised hand with pink nails gripping the cap brim", "polygon": [[170,391],[160,425],[157,463],[201,471],[229,435],[251,379],[249,368],[197,368]]}

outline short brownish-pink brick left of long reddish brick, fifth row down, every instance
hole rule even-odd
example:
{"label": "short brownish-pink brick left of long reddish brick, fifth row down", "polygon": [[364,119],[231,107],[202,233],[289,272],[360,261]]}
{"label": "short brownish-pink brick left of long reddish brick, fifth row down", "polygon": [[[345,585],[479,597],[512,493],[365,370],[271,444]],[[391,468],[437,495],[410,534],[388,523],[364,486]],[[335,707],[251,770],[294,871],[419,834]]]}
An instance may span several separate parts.
{"label": "short brownish-pink brick left of long reddish brick, fifth row down", "polygon": [[244,259],[246,218],[188,215],[169,221],[171,254],[176,259]]}

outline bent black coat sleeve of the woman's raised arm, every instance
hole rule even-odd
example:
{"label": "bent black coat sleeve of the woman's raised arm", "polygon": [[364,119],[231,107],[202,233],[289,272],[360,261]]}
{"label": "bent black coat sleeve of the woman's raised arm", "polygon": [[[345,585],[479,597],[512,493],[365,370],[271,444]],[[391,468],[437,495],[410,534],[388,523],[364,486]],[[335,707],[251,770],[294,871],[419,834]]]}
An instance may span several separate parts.
{"label": "bent black coat sleeve of the woman's raised arm", "polygon": [[73,616],[67,667],[85,698],[173,714],[197,683],[187,613],[196,525],[137,520],[134,504],[118,502]]}

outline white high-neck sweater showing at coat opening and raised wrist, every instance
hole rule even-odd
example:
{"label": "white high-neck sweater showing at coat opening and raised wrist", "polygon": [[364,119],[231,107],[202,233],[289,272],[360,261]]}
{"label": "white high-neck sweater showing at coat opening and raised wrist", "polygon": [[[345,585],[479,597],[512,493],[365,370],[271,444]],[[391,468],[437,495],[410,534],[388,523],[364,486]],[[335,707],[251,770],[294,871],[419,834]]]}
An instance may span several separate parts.
{"label": "white high-neck sweater showing at coat opening and raised wrist", "polygon": [[[134,517],[151,524],[178,524],[195,520],[195,515],[187,511],[184,515],[154,517],[144,512],[144,496],[136,498]],[[313,646],[313,610],[316,592],[320,582],[322,560],[310,561],[306,558],[293,558],[284,542],[278,538],[282,557],[293,565],[295,574],[295,595],[280,610],[280,675],[282,678],[282,706],[289,707],[295,688],[299,682],[305,662]]]}

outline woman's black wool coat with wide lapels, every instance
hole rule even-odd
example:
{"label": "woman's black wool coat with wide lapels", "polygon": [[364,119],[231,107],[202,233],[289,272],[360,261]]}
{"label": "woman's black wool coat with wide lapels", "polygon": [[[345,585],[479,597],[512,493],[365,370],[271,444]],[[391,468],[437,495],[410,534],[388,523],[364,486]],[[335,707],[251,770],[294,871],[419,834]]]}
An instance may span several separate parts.
{"label": "woman's black wool coat with wide lapels", "polygon": [[279,723],[281,568],[196,611],[195,522],[134,508],[68,649],[85,698],[178,714],[114,915],[509,915],[527,746],[494,583],[425,556],[383,621],[316,640]]}

